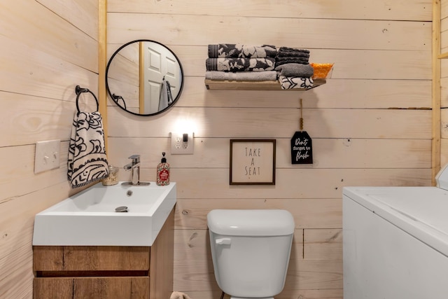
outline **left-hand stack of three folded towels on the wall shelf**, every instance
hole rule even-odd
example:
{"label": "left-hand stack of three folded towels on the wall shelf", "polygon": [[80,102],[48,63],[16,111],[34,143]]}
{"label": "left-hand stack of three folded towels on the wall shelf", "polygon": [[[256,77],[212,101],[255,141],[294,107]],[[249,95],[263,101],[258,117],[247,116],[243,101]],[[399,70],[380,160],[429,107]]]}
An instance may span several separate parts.
{"label": "left-hand stack of three folded towels on the wall shelf", "polygon": [[[235,43],[209,45],[206,78],[213,80],[276,80],[276,47]],[[221,72],[232,74],[220,74]],[[268,74],[265,74],[269,72]]]}

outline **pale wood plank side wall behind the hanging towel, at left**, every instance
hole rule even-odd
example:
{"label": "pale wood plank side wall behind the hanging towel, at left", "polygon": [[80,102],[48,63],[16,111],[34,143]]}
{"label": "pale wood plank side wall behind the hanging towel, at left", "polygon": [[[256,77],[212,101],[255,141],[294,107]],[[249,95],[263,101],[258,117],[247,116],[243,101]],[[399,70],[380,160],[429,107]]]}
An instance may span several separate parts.
{"label": "pale wood plank side wall behind the hanging towel, at left", "polygon": [[[98,90],[98,3],[1,1],[0,28],[0,298],[32,298],[34,215],[76,192],[66,157],[75,86]],[[34,174],[36,141],[52,139],[60,168]]]}

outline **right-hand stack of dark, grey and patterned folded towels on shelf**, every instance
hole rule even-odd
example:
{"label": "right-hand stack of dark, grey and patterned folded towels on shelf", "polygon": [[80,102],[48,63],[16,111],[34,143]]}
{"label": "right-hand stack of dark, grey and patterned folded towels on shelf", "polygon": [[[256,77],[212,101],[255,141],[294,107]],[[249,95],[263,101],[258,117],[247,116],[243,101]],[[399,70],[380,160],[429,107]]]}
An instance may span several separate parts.
{"label": "right-hand stack of dark, grey and patterned folded towels on shelf", "polygon": [[309,50],[280,47],[275,70],[282,89],[313,87],[314,69],[309,64]]}

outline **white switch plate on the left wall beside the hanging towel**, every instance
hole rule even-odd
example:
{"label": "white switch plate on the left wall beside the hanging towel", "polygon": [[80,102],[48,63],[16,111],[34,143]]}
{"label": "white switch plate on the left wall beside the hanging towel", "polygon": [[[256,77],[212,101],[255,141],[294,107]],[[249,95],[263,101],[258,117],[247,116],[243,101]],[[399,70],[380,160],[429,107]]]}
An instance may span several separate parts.
{"label": "white switch plate on the left wall beside the hanging towel", "polygon": [[36,142],[36,155],[34,156],[34,173],[59,168],[59,148],[61,141],[47,140]]}

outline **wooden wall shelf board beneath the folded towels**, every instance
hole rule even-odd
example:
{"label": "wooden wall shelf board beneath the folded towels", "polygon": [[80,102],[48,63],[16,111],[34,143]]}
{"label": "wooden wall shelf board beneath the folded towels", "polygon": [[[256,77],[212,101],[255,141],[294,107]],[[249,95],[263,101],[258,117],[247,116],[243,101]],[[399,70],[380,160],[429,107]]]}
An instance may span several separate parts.
{"label": "wooden wall shelf board beneath the folded towels", "polygon": [[[314,80],[313,88],[325,83],[327,83],[326,80]],[[205,79],[205,86],[208,90],[282,90],[279,81],[229,81]],[[290,89],[290,91],[303,91],[310,89],[312,88],[294,88]]]}

